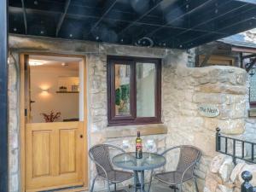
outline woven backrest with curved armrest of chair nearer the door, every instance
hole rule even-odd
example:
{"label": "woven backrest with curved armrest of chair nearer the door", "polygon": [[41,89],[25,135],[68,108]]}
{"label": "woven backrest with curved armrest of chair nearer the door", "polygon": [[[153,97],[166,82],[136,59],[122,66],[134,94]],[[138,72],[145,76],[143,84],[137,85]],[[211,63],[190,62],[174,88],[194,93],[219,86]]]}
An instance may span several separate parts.
{"label": "woven backrest with curved armrest of chair nearer the door", "polygon": [[[124,152],[122,148],[118,148],[108,144],[95,145],[89,150],[90,159],[96,162],[96,170],[99,175],[104,173],[102,167],[106,172],[113,171],[113,166],[109,155],[109,148],[115,148]],[[100,166],[98,166],[97,164],[99,164]]]}

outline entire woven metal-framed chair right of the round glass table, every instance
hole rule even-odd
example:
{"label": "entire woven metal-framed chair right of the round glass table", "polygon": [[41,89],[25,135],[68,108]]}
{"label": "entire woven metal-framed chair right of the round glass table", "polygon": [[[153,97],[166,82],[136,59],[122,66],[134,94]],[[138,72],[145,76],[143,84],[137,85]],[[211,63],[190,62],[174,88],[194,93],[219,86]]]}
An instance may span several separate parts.
{"label": "entire woven metal-framed chair right of the round glass table", "polygon": [[154,176],[154,178],[159,180],[160,182],[168,184],[170,188],[174,189],[174,191],[176,191],[177,185],[179,185],[180,192],[182,192],[183,183],[193,179],[195,183],[195,190],[196,192],[199,192],[194,175],[194,169],[195,164],[201,158],[201,150],[190,145],[181,145],[173,148],[168,148],[161,155],[165,155],[175,148],[180,149],[176,171],[160,172],[157,174],[151,172],[149,190],[151,186],[152,177]]}

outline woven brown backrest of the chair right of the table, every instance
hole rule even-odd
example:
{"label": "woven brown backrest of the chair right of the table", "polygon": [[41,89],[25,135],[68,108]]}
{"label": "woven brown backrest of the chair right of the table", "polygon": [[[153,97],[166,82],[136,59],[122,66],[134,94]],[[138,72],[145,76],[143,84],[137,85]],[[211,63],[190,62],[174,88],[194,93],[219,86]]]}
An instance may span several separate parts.
{"label": "woven brown backrest of the chair right of the table", "polygon": [[182,145],[180,148],[179,160],[177,163],[177,171],[184,172],[189,166],[191,166],[187,171],[187,174],[192,174],[195,168],[195,162],[201,158],[201,150],[190,145]]}

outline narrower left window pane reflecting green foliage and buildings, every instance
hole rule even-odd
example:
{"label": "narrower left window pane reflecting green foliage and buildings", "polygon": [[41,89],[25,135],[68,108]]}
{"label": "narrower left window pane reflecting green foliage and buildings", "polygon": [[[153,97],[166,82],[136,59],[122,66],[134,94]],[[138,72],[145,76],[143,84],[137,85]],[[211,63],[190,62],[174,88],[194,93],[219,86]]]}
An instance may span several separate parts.
{"label": "narrower left window pane reflecting green foliage and buildings", "polygon": [[115,114],[120,116],[130,116],[130,66],[114,66],[115,84]]}

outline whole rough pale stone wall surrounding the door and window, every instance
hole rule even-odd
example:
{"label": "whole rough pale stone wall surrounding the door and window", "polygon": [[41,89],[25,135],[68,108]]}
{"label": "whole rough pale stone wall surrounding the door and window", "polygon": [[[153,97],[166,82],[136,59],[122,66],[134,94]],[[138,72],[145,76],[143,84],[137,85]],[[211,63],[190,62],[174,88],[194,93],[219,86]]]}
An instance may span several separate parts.
{"label": "whole rough pale stone wall surrounding the door and window", "polygon": [[[86,56],[88,82],[88,139],[89,147],[96,143],[121,145],[131,143],[134,150],[137,130],[142,131],[143,141],[154,138],[158,152],[179,144],[191,144],[201,148],[203,156],[196,168],[200,191],[204,188],[207,169],[215,153],[215,129],[217,126],[227,134],[241,134],[245,126],[246,79],[244,70],[236,67],[193,66],[191,52],[177,49],[150,49],[113,44],[96,44],[44,38],[11,37],[10,51],[15,60],[9,64],[10,98],[10,191],[20,191],[19,177],[19,74],[17,68],[19,51],[54,52],[59,54],[79,54]],[[192,51],[193,54],[193,51]],[[107,119],[107,55],[130,55],[157,57],[163,59],[162,66],[162,125],[131,125],[108,127]],[[12,58],[12,57],[10,57]],[[189,64],[190,62],[190,64]],[[189,66],[189,67],[188,67]],[[202,117],[198,104],[216,105],[220,114],[216,118]],[[14,110],[15,108],[15,110]],[[119,132],[118,136],[116,132]],[[17,143],[15,145],[15,143]],[[14,155],[12,155],[14,154]],[[175,165],[169,156],[168,165]],[[166,169],[174,168],[173,166]],[[95,167],[90,163],[90,181],[95,175]],[[125,183],[127,184],[127,183]],[[96,190],[105,183],[97,182]],[[186,191],[195,191],[192,183]]]}

